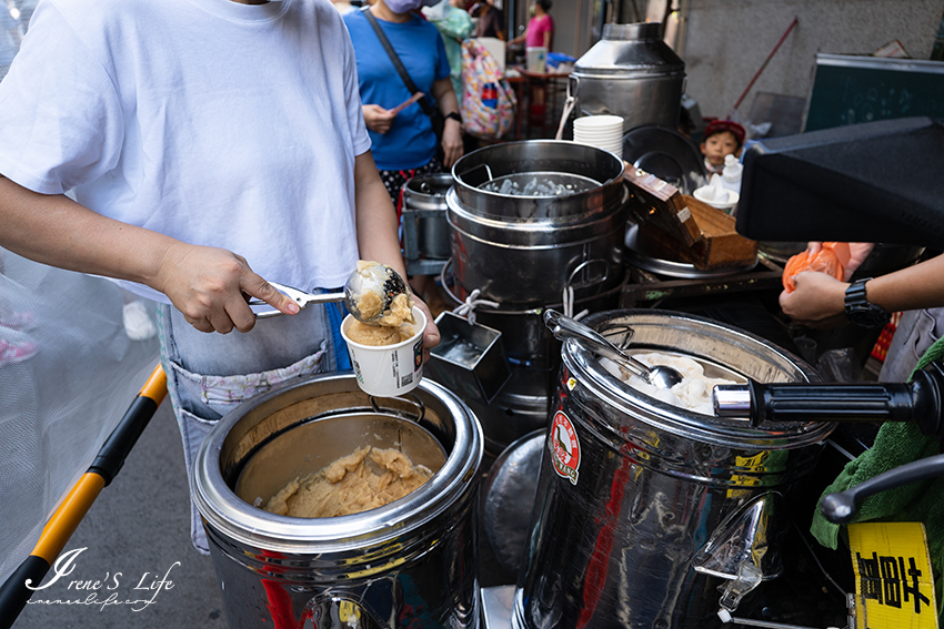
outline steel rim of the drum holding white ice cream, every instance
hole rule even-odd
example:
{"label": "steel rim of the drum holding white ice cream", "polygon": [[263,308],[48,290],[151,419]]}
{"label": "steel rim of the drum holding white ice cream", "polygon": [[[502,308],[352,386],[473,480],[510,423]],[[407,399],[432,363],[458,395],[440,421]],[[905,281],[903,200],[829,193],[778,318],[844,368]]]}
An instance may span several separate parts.
{"label": "steel rim of the drum holding white ice cream", "polygon": [[[583,323],[605,335],[606,326],[625,324],[635,332],[630,353],[664,352],[694,358],[710,377],[750,377],[762,383],[819,382],[806,363],[747,332],[684,313],[656,310],[610,311],[588,316]],[[576,383],[595,397],[625,409],[627,417],[680,437],[723,447],[790,449],[825,439],[834,423],[777,423],[746,426],[669,405],[611,375],[593,353],[565,343],[563,362]],[[617,434],[620,426],[610,426]]]}

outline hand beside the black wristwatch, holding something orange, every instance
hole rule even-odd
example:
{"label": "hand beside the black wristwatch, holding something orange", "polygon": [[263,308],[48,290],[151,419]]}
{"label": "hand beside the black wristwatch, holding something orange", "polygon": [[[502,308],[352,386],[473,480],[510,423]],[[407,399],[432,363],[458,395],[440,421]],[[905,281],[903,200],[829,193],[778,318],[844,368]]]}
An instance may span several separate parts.
{"label": "hand beside the black wristwatch, holding something orange", "polygon": [[780,307],[794,322],[816,329],[840,327],[845,317],[845,290],[848,284],[816,271],[797,273],[796,290],[780,294]]}

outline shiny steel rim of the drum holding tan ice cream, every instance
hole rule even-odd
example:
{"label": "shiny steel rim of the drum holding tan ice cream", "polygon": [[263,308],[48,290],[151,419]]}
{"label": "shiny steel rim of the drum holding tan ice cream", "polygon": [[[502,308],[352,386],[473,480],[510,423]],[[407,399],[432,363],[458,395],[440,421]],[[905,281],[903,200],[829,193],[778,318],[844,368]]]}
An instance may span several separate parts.
{"label": "shiny steel rim of the drum holding tan ice cream", "polygon": [[[468,406],[450,394],[440,396],[439,400],[453,417],[462,418],[455,422],[455,443],[468,440],[470,447],[464,455],[460,448],[453,447],[433,478],[400,500],[352,516],[308,519],[277,516],[237,496],[223,478],[219,461],[225,436],[244,413],[294,388],[337,379],[353,381],[354,377],[332,373],[301,378],[253,397],[217,423],[203,439],[190,474],[191,496],[210,526],[242,544],[267,550],[305,554],[343,551],[361,548],[365,537],[371,544],[382,544],[401,535],[404,528],[420,527],[446,509],[454,496],[464,490],[460,480],[475,473],[482,457],[483,436]],[[429,379],[421,381],[420,387],[440,394],[446,392]]]}

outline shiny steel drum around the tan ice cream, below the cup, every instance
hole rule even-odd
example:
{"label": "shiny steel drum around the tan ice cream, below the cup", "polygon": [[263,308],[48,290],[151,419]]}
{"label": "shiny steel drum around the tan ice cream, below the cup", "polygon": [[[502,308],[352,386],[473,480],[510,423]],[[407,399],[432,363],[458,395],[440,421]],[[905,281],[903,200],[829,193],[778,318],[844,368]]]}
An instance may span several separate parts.
{"label": "shiny steel drum around the tan ice cream, below the cup", "polygon": [[[253,506],[364,445],[399,448],[435,473],[350,516]],[[352,375],[324,374],[240,405],[210,432],[190,479],[230,628],[476,628],[482,452],[475,416],[429,381],[373,398]]]}

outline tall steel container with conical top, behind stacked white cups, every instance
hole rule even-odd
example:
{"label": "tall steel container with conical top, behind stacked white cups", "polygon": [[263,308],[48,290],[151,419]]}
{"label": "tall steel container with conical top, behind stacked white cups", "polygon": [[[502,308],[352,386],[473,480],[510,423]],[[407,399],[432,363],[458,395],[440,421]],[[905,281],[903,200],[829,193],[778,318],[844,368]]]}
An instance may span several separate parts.
{"label": "tall steel container with conical top, behind stacked white cups", "polygon": [[623,132],[644,124],[677,128],[685,62],[662,41],[661,27],[604,24],[570,75],[578,115],[621,115]]}

